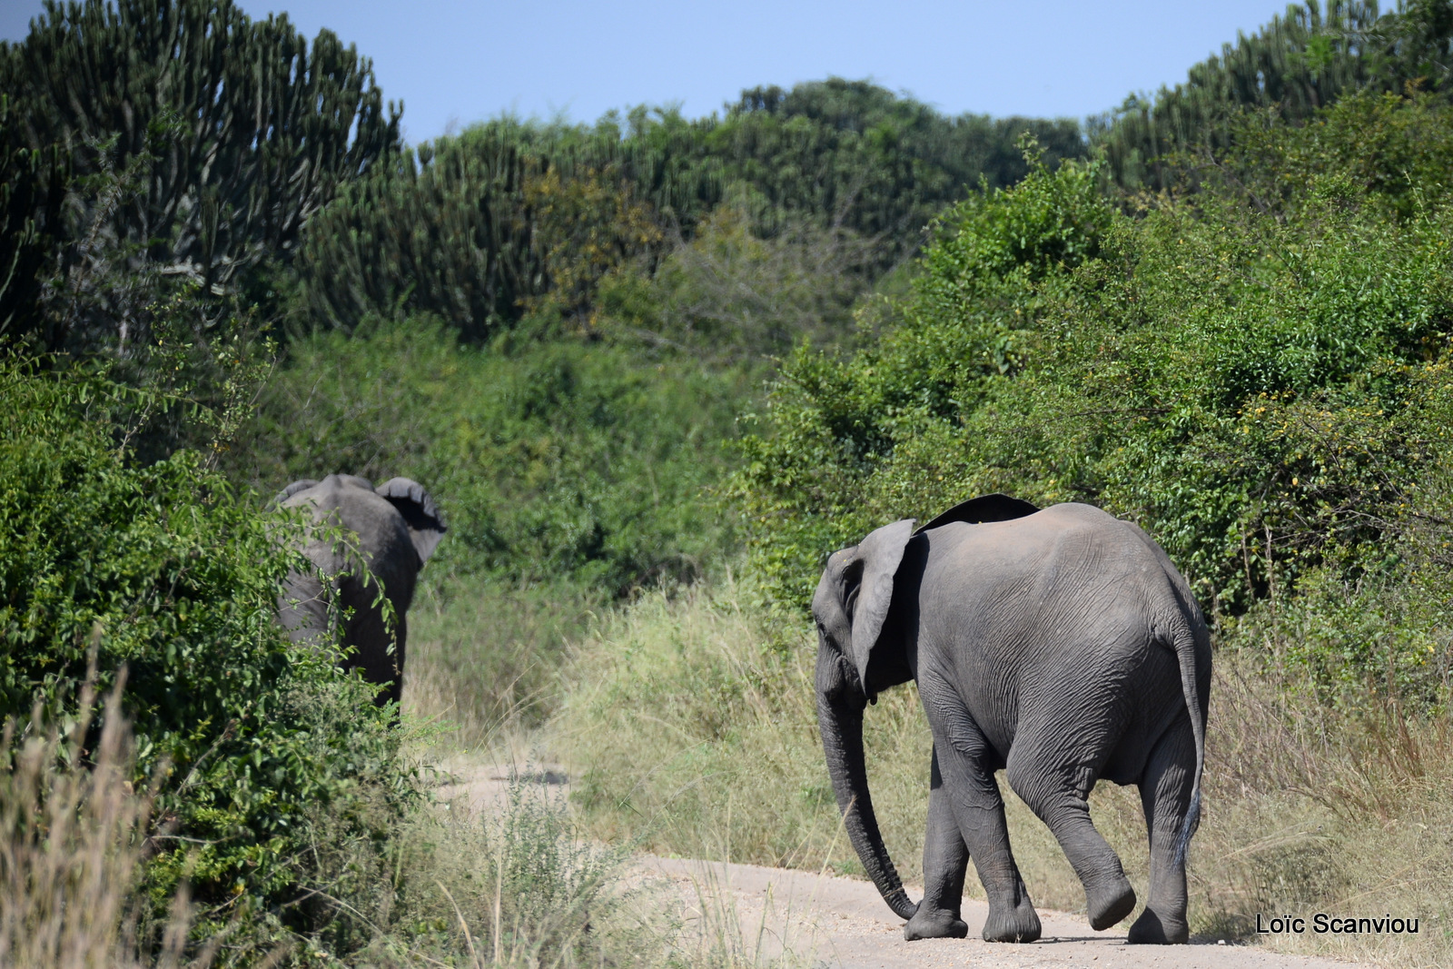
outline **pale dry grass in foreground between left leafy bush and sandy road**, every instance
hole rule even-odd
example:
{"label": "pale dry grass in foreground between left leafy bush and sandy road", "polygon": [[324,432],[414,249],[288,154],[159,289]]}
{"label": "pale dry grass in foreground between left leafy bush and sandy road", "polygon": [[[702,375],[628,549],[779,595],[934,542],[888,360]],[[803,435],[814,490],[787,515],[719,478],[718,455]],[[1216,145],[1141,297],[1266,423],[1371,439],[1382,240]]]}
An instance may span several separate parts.
{"label": "pale dry grass in foreground between left leafy bush and sandy road", "polygon": [[375,909],[378,934],[357,965],[745,969],[790,959],[764,950],[718,886],[683,899],[644,879],[629,853],[591,840],[564,795],[527,771],[500,803],[420,812],[394,851],[389,911]]}

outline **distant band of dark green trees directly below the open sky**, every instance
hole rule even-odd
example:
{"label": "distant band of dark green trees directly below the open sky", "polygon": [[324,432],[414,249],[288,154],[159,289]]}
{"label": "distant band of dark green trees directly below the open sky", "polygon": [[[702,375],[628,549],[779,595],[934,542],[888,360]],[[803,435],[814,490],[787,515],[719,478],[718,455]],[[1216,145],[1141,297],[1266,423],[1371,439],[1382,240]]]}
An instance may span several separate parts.
{"label": "distant band of dark green trees directly below the open sky", "polygon": [[946,202],[1020,177],[1023,131],[1052,158],[1084,153],[1072,122],[944,118],[838,78],[744,92],[696,121],[644,108],[594,126],[501,118],[347,187],[312,221],[299,269],[328,325],[432,312],[482,340],[542,301],[588,315],[607,272],[649,275],[676,232],[689,240],[726,202],[764,240],[805,227],[870,240],[854,266],[865,286]]}

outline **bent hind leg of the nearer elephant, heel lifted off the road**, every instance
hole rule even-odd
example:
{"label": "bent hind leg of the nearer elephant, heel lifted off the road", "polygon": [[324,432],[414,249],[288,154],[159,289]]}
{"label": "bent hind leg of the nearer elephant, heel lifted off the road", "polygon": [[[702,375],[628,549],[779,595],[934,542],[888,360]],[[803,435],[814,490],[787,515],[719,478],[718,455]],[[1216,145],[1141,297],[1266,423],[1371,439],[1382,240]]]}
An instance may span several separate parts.
{"label": "bent hind leg of the nearer elephant, heel lifted off the road", "polygon": [[1090,819],[1090,789],[1098,764],[1065,764],[1045,757],[1051,744],[1036,742],[1035,731],[1020,728],[1005,764],[1005,776],[1024,803],[1059,841],[1085,889],[1090,928],[1117,924],[1135,909],[1135,889],[1125,877],[1120,856]]}

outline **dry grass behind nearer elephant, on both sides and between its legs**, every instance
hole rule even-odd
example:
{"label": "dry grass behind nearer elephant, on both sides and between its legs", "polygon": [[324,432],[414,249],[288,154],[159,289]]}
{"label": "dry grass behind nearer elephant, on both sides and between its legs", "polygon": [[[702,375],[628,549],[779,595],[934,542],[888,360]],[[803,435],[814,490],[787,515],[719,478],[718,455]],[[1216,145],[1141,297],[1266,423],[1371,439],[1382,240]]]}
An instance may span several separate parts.
{"label": "dry grass behind nearer elephant, on both sides and between its legs", "polygon": [[[551,742],[572,764],[599,837],[661,854],[860,875],[833,850],[837,808],[817,735],[814,644],[716,590],[664,591],[603,619],[570,670]],[[1264,944],[1385,965],[1453,959],[1453,747],[1446,719],[1395,705],[1338,712],[1222,648],[1205,815],[1191,846],[1193,931],[1254,938],[1263,915],[1420,918],[1418,936],[1282,936]],[[930,737],[915,690],[866,713],[883,838],[921,876]],[[1010,837],[1037,905],[1084,909],[1049,830],[1003,782]],[[1144,899],[1145,821],[1133,787],[1100,784],[1096,825]],[[969,895],[981,896],[969,877]],[[1449,927],[1449,930],[1444,928]]]}

